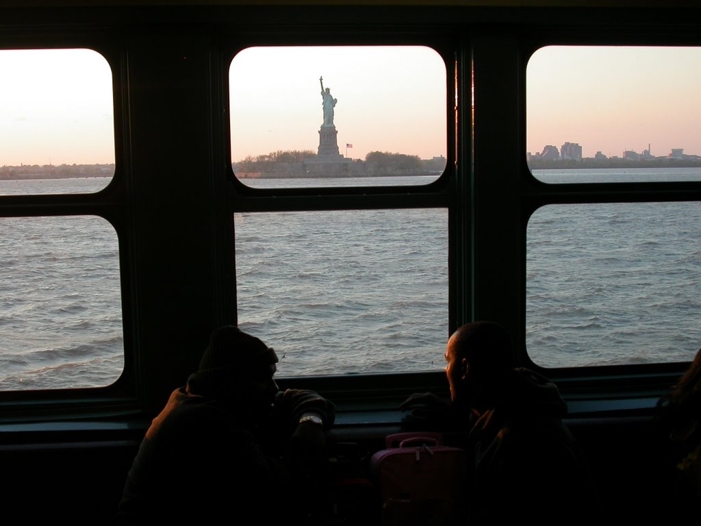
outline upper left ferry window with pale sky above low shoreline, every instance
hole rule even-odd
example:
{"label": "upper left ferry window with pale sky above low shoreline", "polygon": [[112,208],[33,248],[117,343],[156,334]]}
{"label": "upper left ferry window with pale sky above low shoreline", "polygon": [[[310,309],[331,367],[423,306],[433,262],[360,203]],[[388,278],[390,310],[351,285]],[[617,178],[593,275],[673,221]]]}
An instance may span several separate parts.
{"label": "upper left ferry window with pale sky above low shoreline", "polygon": [[107,60],[89,49],[0,50],[0,72],[0,180],[62,179],[53,189],[69,193],[106,187],[114,174]]}

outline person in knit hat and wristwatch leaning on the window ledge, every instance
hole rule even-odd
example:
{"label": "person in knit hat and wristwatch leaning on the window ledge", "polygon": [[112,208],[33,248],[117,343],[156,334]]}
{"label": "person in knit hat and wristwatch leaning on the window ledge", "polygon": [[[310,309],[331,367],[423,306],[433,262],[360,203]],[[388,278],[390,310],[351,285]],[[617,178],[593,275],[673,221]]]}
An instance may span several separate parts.
{"label": "person in knit hat and wristwatch leaning on the window ledge", "polygon": [[280,391],[277,363],[272,348],[233,325],[212,332],[198,370],[142,440],[117,524],[301,524],[313,513],[335,407],[314,391]]}

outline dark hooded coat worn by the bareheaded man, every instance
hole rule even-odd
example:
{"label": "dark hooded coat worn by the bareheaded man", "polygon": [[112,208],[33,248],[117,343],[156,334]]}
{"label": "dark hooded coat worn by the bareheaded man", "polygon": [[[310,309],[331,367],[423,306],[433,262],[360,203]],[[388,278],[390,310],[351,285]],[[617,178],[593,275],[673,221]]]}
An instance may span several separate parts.
{"label": "dark hooded coat worn by the bareheaded man", "polygon": [[477,415],[470,431],[471,526],[594,520],[599,499],[584,454],[562,422],[566,412],[555,384],[531,370],[512,371],[500,401]]}

